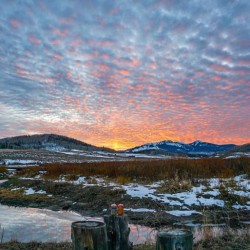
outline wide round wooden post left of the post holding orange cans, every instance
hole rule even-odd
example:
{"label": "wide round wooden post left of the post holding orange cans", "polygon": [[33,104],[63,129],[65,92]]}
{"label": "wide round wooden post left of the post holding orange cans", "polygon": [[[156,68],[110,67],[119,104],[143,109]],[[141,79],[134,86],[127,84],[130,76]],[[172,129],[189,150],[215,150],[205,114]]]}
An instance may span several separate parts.
{"label": "wide round wooden post left of the post holding orange cans", "polygon": [[71,225],[73,250],[108,250],[106,225],[100,221],[76,221]]}

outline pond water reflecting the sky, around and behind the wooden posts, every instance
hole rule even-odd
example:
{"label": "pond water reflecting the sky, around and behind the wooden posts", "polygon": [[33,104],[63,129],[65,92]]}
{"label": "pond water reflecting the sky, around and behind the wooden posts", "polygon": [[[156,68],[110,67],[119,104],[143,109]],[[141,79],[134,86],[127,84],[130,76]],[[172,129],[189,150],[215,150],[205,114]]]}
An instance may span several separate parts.
{"label": "pond water reflecting the sky, around and behind the wooden posts", "polygon": [[[71,223],[73,221],[101,217],[83,217],[74,212],[51,211],[38,208],[16,208],[0,204],[0,241],[18,240],[21,242],[64,242],[71,241]],[[130,224],[130,241],[136,244],[154,242],[157,230],[146,226]],[[225,224],[198,224],[193,221],[176,223],[172,228],[189,228],[197,242],[205,237],[221,236],[228,231]],[[235,230],[237,234],[250,233],[250,225]]]}

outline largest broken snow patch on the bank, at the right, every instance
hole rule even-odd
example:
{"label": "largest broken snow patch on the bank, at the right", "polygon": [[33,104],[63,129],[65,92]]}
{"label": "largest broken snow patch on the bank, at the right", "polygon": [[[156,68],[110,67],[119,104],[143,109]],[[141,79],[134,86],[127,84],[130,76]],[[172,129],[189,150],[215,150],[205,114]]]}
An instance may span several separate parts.
{"label": "largest broken snow patch on the bank, at the right", "polygon": [[[247,179],[246,175],[228,179],[212,178],[205,181],[207,183],[206,185],[200,184],[196,187],[192,187],[189,191],[174,194],[157,192],[157,186],[159,186],[160,183],[154,183],[154,185],[128,184],[122,187],[126,190],[126,193],[132,197],[148,197],[166,203],[169,206],[187,208],[191,206],[204,207],[213,205],[224,207],[226,205],[225,201],[218,198],[221,194],[220,187],[223,186],[229,194],[236,194],[239,197],[248,198],[246,205],[240,206],[236,203],[234,205],[236,209],[250,209],[250,180]],[[230,186],[232,181],[234,186]]]}

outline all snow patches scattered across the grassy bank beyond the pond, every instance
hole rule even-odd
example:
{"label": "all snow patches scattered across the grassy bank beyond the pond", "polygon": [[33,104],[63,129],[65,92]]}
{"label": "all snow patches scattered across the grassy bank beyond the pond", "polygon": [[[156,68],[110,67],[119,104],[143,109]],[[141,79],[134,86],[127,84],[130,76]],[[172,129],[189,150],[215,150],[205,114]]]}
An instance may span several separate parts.
{"label": "all snow patches scattered across the grassy bank beyond the pond", "polygon": [[[43,173],[39,173],[34,178],[22,178],[22,179],[42,179]],[[177,193],[160,192],[158,188],[163,182],[158,181],[151,184],[137,184],[128,183],[126,185],[117,184],[115,182],[106,181],[104,178],[91,177],[85,178],[84,176],[79,176],[78,179],[74,181],[67,181],[66,176],[62,176],[56,182],[68,182],[75,185],[87,186],[105,186],[111,187],[112,189],[123,189],[125,193],[131,197],[138,198],[150,198],[153,201],[164,203],[169,207],[169,210],[178,209],[181,211],[179,214],[183,214],[184,211],[189,211],[188,213],[197,213],[193,208],[202,210],[204,207],[218,206],[227,207],[228,201],[224,200],[222,191],[226,190],[228,194],[237,195],[239,198],[244,197],[247,199],[245,204],[239,204],[235,201],[231,204],[232,208],[235,209],[247,209],[250,210],[250,180],[247,179],[246,175],[236,176],[234,178],[220,179],[211,178],[205,180],[199,180],[198,185],[193,186],[190,190]],[[26,194],[32,193],[32,190],[26,191]],[[39,192],[36,192],[39,194]],[[133,212],[154,212],[147,208],[128,208]],[[178,212],[175,213],[176,215]]]}

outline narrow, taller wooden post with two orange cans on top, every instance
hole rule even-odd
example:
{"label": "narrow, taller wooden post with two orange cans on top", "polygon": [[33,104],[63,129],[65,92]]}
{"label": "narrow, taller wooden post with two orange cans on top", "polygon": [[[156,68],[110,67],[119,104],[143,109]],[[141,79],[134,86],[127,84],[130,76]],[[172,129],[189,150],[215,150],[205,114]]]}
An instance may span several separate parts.
{"label": "narrow, taller wooden post with two orange cans on top", "polygon": [[109,250],[130,250],[128,216],[105,215]]}

